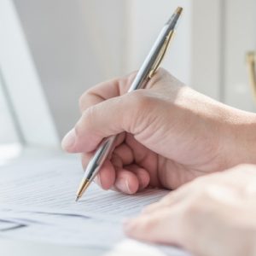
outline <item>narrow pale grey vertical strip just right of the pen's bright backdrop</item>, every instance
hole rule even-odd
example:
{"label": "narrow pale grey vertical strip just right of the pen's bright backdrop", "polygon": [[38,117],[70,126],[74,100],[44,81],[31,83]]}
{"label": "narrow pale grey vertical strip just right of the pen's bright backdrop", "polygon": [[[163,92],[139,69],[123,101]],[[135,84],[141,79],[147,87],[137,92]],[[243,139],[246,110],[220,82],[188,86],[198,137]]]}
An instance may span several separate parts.
{"label": "narrow pale grey vertical strip just right of the pen's bright backdrop", "polygon": [[191,9],[191,85],[217,100],[222,98],[222,10],[224,0],[193,0]]}

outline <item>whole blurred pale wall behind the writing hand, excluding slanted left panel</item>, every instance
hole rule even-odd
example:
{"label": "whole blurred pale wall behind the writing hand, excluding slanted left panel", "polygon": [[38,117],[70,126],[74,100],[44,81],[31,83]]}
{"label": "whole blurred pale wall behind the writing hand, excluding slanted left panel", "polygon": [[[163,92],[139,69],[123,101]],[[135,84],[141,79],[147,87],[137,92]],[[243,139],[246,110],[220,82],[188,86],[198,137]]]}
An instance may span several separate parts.
{"label": "whole blurred pale wall behind the writing hand, excluding slanted left panel", "polygon": [[254,110],[244,55],[256,49],[255,0],[14,0],[61,136],[90,86],[140,67],[184,8],[164,67],[208,96]]}

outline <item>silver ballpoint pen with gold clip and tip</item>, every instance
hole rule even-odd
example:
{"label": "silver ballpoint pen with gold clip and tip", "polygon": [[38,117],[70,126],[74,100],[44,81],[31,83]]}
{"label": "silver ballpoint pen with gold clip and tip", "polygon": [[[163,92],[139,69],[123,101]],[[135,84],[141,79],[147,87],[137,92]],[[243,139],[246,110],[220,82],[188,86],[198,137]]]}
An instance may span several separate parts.
{"label": "silver ballpoint pen with gold clip and tip", "polygon": [[[139,69],[136,78],[133,80],[128,92],[137,89],[143,89],[148,83],[148,80],[154,76],[161,61],[166,54],[168,45],[170,44],[175,26],[177,25],[177,20],[181,15],[183,9],[178,7],[170,20],[168,20],[165,26],[160,31],[160,34],[152,49],[149,51],[148,56],[143,62],[142,67]],[[85,169],[84,177],[79,185],[77,191],[76,201],[84,194],[84,191],[89,187],[90,183],[96,177],[96,174],[100,171],[102,164],[108,158],[108,155],[113,150],[113,145],[116,140],[117,135],[103,139],[102,143],[96,149],[96,153],[90,159],[88,166]]]}

